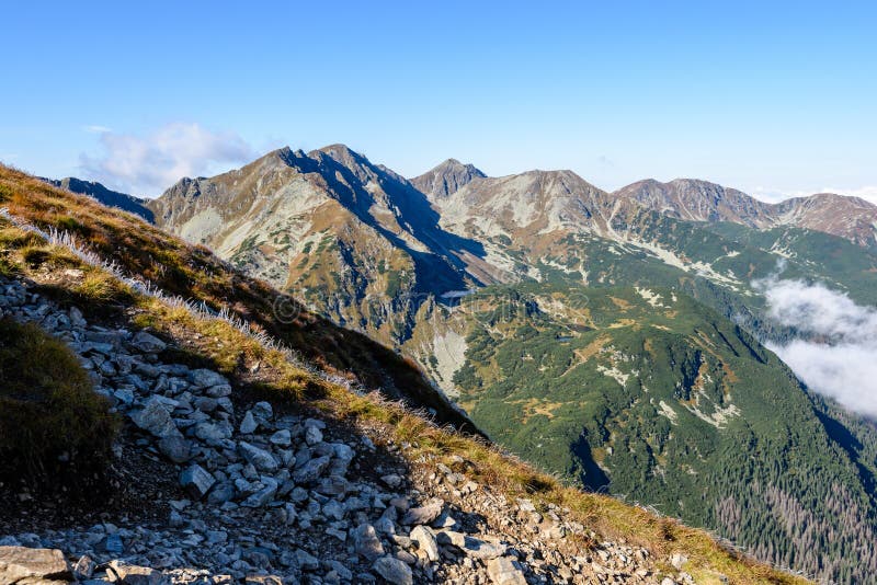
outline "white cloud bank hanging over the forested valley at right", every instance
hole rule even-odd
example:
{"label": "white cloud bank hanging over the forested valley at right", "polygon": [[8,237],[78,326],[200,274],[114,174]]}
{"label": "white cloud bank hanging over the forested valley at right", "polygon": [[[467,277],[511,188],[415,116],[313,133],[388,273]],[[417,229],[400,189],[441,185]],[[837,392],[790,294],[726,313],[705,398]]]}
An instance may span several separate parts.
{"label": "white cloud bank hanging over the forested valley at right", "polygon": [[877,310],[821,284],[771,278],[755,286],[772,318],[808,334],[768,347],[812,390],[877,416]]}

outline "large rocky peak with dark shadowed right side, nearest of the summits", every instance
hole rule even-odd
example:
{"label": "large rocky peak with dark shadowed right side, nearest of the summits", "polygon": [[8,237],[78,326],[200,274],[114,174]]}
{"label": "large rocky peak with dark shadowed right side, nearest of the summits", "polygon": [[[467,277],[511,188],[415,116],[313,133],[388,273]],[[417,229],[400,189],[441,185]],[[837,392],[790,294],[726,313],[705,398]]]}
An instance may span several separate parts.
{"label": "large rocky peak with dark shadowed right side, nearest of the summits", "polygon": [[429,299],[482,284],[479,243],[441,228],[406,179],[342,145],[184,179],[150,208],[160,227],[385,342],[406,337]]}

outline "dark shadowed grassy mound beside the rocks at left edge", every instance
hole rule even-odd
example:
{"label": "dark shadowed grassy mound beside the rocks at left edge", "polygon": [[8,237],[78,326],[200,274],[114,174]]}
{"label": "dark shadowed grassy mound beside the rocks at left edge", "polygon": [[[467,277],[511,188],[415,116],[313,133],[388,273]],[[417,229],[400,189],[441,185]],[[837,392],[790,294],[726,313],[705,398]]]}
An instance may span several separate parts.
{"label": "dark shadowed grassy mound beside the rocks at left edge", "polygon": [[64,343],[0,320],[0,478],[42,490],[99,487],[116,428]]}

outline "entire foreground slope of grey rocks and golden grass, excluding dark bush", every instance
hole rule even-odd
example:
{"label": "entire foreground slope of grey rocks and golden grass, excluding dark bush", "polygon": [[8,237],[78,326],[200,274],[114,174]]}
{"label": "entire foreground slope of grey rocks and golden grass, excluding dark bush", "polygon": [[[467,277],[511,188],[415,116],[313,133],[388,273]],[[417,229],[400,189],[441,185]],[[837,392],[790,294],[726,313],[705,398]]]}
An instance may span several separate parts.
{"label": "entire foreground slope of grey rocks and golden grass, excluding dark bush", "polygon": [[[339,386],[327,366],[303,369],[227,308],[114,280],[138,261],[123,255],[119,268],[95,251],[164,237],[0,171],[2,203],[19,214],[0,219],[3,314],[66,341],[125,418],[109,501],[58,505],[0,489],[8,582],[795,581]],[[39,244],[22,231],[25,221],[37,236],[76,225],[67,214],[118,240],[49,234],[55,243]],[[168,254],[186,251],[162,241]],[[206,300],[209,287],[192,290]]]}

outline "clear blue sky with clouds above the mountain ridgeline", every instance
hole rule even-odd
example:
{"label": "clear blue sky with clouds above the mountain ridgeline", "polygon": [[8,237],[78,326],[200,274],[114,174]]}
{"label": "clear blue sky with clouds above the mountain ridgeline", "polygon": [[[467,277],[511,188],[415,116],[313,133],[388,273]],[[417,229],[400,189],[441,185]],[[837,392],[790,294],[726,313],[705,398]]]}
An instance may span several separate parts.
{"label": "clear blue sky with clouds above the mountain ridgeline", "polygon": [[[371,5],[374,4],[374,5]],[[877,200],[877,3],[10,2],[0,160],[156,195],[284,145]]]}

